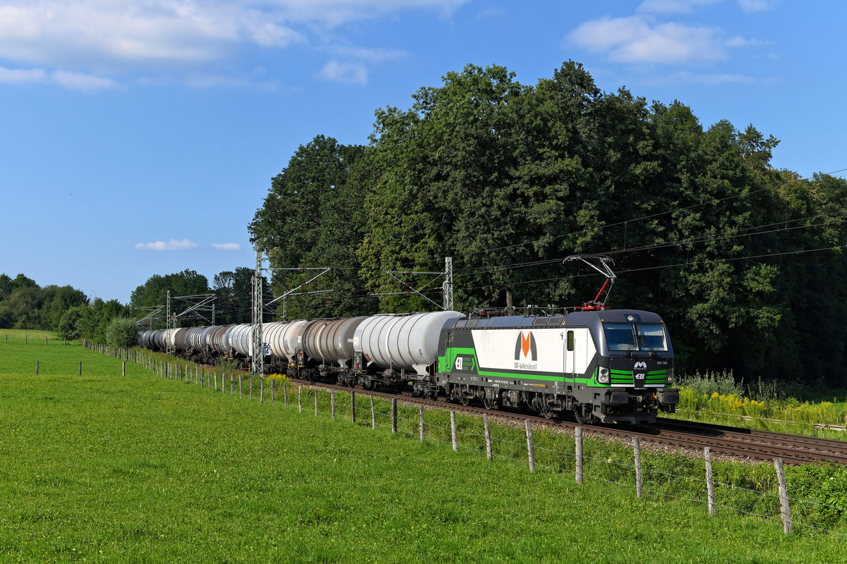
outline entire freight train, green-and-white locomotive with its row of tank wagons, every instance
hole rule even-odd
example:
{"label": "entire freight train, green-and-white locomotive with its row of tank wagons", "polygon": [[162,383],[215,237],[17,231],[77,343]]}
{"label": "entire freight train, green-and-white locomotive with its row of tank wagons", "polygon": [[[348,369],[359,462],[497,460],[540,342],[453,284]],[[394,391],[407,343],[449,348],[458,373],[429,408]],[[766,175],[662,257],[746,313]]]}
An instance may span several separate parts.
{"label": "entire freight train, green-and-white locomotive with its row of tank wagons", "polygon": [[[263,342],[269,372],[489,409],[528,408],[547,418],[573,413],[587,423],[651,423],[679,402],[667,327],[637,309],[294,320],[263,324]],[[139,343],[246,364],[252,326],[144,331]]]}

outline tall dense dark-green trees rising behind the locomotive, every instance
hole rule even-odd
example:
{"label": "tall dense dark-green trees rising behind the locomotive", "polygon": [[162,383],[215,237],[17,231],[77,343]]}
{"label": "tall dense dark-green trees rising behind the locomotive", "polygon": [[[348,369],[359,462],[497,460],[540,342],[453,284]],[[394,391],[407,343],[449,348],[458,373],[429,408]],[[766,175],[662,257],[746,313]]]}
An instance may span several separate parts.
{"label": "tall dense dark-green trees rising behind the locomotive", "polygon": [[[678,370],[836,384],[844,376],[847,182],[771,165],[773,136],[704,127],[681,101],[601,91],[573,61],[521,85],[466,66],[379,108],[367,145],[318,134],[248,227],[276,269],[332,267],[289,318],[435,306],[386,271],[454,260],[456,309],[607,305],[660,313]],[[281,293],[313,271],[274,271]],[[432,275],[398,275],[440,303]],[[429,286],[427,286],[429,282]],[[374,295],[380,294],[380,295]]]}

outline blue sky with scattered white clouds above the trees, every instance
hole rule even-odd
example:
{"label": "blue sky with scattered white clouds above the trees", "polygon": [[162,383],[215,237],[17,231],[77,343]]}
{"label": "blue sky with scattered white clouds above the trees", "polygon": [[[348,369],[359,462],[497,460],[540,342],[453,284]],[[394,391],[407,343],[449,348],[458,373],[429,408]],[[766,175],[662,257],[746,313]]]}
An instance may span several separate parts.
{"label": "blue sky with scattered white clouds above the trees", "polygon": [[[253,266],[247,224],[317,134],[467,63],[752,123],[772,164],[847,168],[839,2],[0,0],[0,272],[128,302],[153,274]],[[838,172],[844,176],[844,172]]]}

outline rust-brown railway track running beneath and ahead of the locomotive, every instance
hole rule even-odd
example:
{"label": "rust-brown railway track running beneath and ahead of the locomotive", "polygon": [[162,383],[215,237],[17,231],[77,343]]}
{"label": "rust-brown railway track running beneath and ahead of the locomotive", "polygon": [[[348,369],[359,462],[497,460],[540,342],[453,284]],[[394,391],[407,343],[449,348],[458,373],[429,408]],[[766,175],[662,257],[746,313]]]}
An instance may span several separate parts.
{"label": "rust-brown railway track running beneath and ahead of the locomotive", "polygon": [[[347,386],[319,382],[292,381],[298,384],[320,386],[346,392],[354,389]],[[529,419],[533,424],[552,429],[572,430],[580,426],[575,421],[569,421],[567,419],[545,419],[534,414],[510,409],[490,410],[473,404],[462,405],[461,403],[448,402],[445,397],[430,400],[412,397],[411,394],[377,392],[362,388],[355,388],[355,391],[360,394],[374,395],[374,397],[398,397],[404,401],[414,402],[415,404],[424,405],[424,407],[429,408],[451,409],[461,413],[478,415],[490,413],[501,419],[515,419],[516,421]],[[771,431],[748,430],[662,418],[658,419],[656,424],[650,426],[584,425],[584,429],[598,435],[606,435],[621,440],[632,440],[634,437],[639,437],[639,441],[642,442],[649,441],[660,445],[691,449],[697,452],[702,452],[703,448],[708,446],[713,454],[722,454],[728,457],[739,457],[743,459],[771,461],[773,458],[779,457],[787,464],[819,462],[847,464],[847,441],[836,441],[832,439],[817,439],[801,435],[787,435]]]}

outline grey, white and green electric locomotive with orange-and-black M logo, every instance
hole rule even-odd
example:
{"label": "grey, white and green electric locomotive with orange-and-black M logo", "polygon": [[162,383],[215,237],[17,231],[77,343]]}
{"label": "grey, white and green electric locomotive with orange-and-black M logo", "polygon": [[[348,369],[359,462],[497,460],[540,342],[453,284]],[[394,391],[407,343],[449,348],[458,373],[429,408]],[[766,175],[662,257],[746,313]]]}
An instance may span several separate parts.
{"label": "grey, white and green electric locomotive with orange-and-black M logo", "polygon": [[679,402],[667,327],[636,309],[452,320],[441,330],[437,363],[433,378],[447,397],[490,409],[642,424]]}

